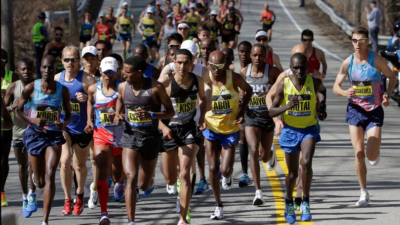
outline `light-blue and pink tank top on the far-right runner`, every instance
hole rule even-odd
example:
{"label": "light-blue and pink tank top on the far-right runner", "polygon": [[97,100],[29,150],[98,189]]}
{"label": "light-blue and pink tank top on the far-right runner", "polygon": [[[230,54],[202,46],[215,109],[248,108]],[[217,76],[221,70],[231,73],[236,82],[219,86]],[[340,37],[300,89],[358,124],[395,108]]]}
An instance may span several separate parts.
{"label": "light-blue and pink tank top on the far-right runner", "polygon": [[369,51],[368,63],[354,64],[353,54],[350,56],[349,80],[351,87],[356,91],[356,96],[349,102],[359,105],[365,111],[371,111],[382,104],[384,92],[384,76],[374,67],[375,54]]}

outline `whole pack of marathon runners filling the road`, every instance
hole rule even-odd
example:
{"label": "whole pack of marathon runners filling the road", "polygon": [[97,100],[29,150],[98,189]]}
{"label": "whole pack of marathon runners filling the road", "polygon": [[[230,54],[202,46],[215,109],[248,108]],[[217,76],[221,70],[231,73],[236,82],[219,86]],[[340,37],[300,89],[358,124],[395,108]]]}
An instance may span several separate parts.
{"label": "whole pack of marathon runners filling the road", "polygon": [[[220,182],[223,190],[234,184],[237,146],[242,168],[238,185],[254,182],[252,204],[264,204],[259,160],[268,170],[276,167],[276,134],[288,168],[285,220],[294,223],[295,209],[299,209],[300,220],[311,221],[318,120],[327,117],[323,86],[327,64],[323,51],[313,47],[313,32],[301,33],[301,43],[291,49],[290,68],[283,70],[268,44],[276,19],[268,3],[260,16],[262,29],[254,33],[253,40],[238,44],[243,17],[234,0],[223,0],[219,10],[210,10],[205,0],[173,6],[170,0],[163,2],[164,9],[160,0],[150,2],[137,27],[126,2],[118,17],[113,16],[112,7],[108,14],[101,12],[97,25],[87,12],[80,47],[66,45],[62,28],[55,28],[54,41],[43,53],[41,79],[35,80],[35,64],[28,58],[19,60],[15,72],[6,70],[7,53],[1,49],[1,206],[8,205],[4,186],[11,146],[19,166],[25,217],[38,209],[36,189],[44,189],[42,225],[49,221],[57,167],[65,194],[61,215],[82,213],[90,156],[93,182],[88,208],[100,205],[99,225],[109,225],[112,215],[107,202],[114,183],[113,200],[125,200],[129,225],[134,225],[140,193],[149,195],[155,189],[161,153],[166,192],[178,193],[178,225],[191,222],[191,197],[209,191],[209,185],[216,203],[210,219],[220,220],[224,218]],[[136,31],[143,35],[143,44],[131,51]],[[98,40],[92,45],[96,33]],[[121,55],[112,53],[118,33]],[[164,41],[167,50],[160,57],[157,53]],[[362,206],[370,202],[364,158],[372,165],[379,162],[381,105],[389,105],[396,77],[382,57],[368,50],[365,28],[353,31],[352,43],[355,53],[343,62],[333,92],[349,98],[346,121],[361,188],[356,204]],[[238,50],[236,62],[234,48]],[[160,63],[153,66],[157,58]],[[343,90],[346,77],[351,88]],[[384,77],[389,79],[386,93]],[[249,154],[253,181],[248,176]]]}

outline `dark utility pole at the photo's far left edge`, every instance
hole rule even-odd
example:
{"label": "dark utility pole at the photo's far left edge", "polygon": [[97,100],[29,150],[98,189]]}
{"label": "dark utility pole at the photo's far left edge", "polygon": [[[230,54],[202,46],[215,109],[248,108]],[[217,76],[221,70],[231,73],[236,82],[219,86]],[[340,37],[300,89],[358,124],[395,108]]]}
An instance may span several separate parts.
{"label": "dark utility pole at the photo's far left edge", "polygon": [[1,0],[1,48],[7,51],[7,69],[14,71],[14,29],[12,0]]}

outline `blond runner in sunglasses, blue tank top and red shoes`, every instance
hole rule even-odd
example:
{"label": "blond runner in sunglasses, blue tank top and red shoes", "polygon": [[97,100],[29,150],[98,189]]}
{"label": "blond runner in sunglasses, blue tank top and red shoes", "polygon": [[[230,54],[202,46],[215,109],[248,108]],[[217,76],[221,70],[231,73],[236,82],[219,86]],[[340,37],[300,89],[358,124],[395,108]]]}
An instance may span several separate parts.
{"label": "blond runner in sunglasses, blue tank top and red shoes", "polygon": [[[71,150],[73,152],[73,167],[77,175],[78,188],[76,190],[76,203],[74,213],[80,215],[84,208],[83,186],[86,182],[86,161],[89,148],[92,145],[92,135],[84,132],[86,126],[87,88],[96,83],[95,79],[88,73],[80,70],[79,49],[74,45],[64,48],[62,60],[65,70],[55,75],[54,79],[59,81],[70,91],[71,97],[71,123],[63,130],[64,138],[67,140],[62,146],[60,176],[65,194],[64,209],[62,216],[72,214],[72,170]],[[60,119],[63,120],[64,113],[61,110]]]}

